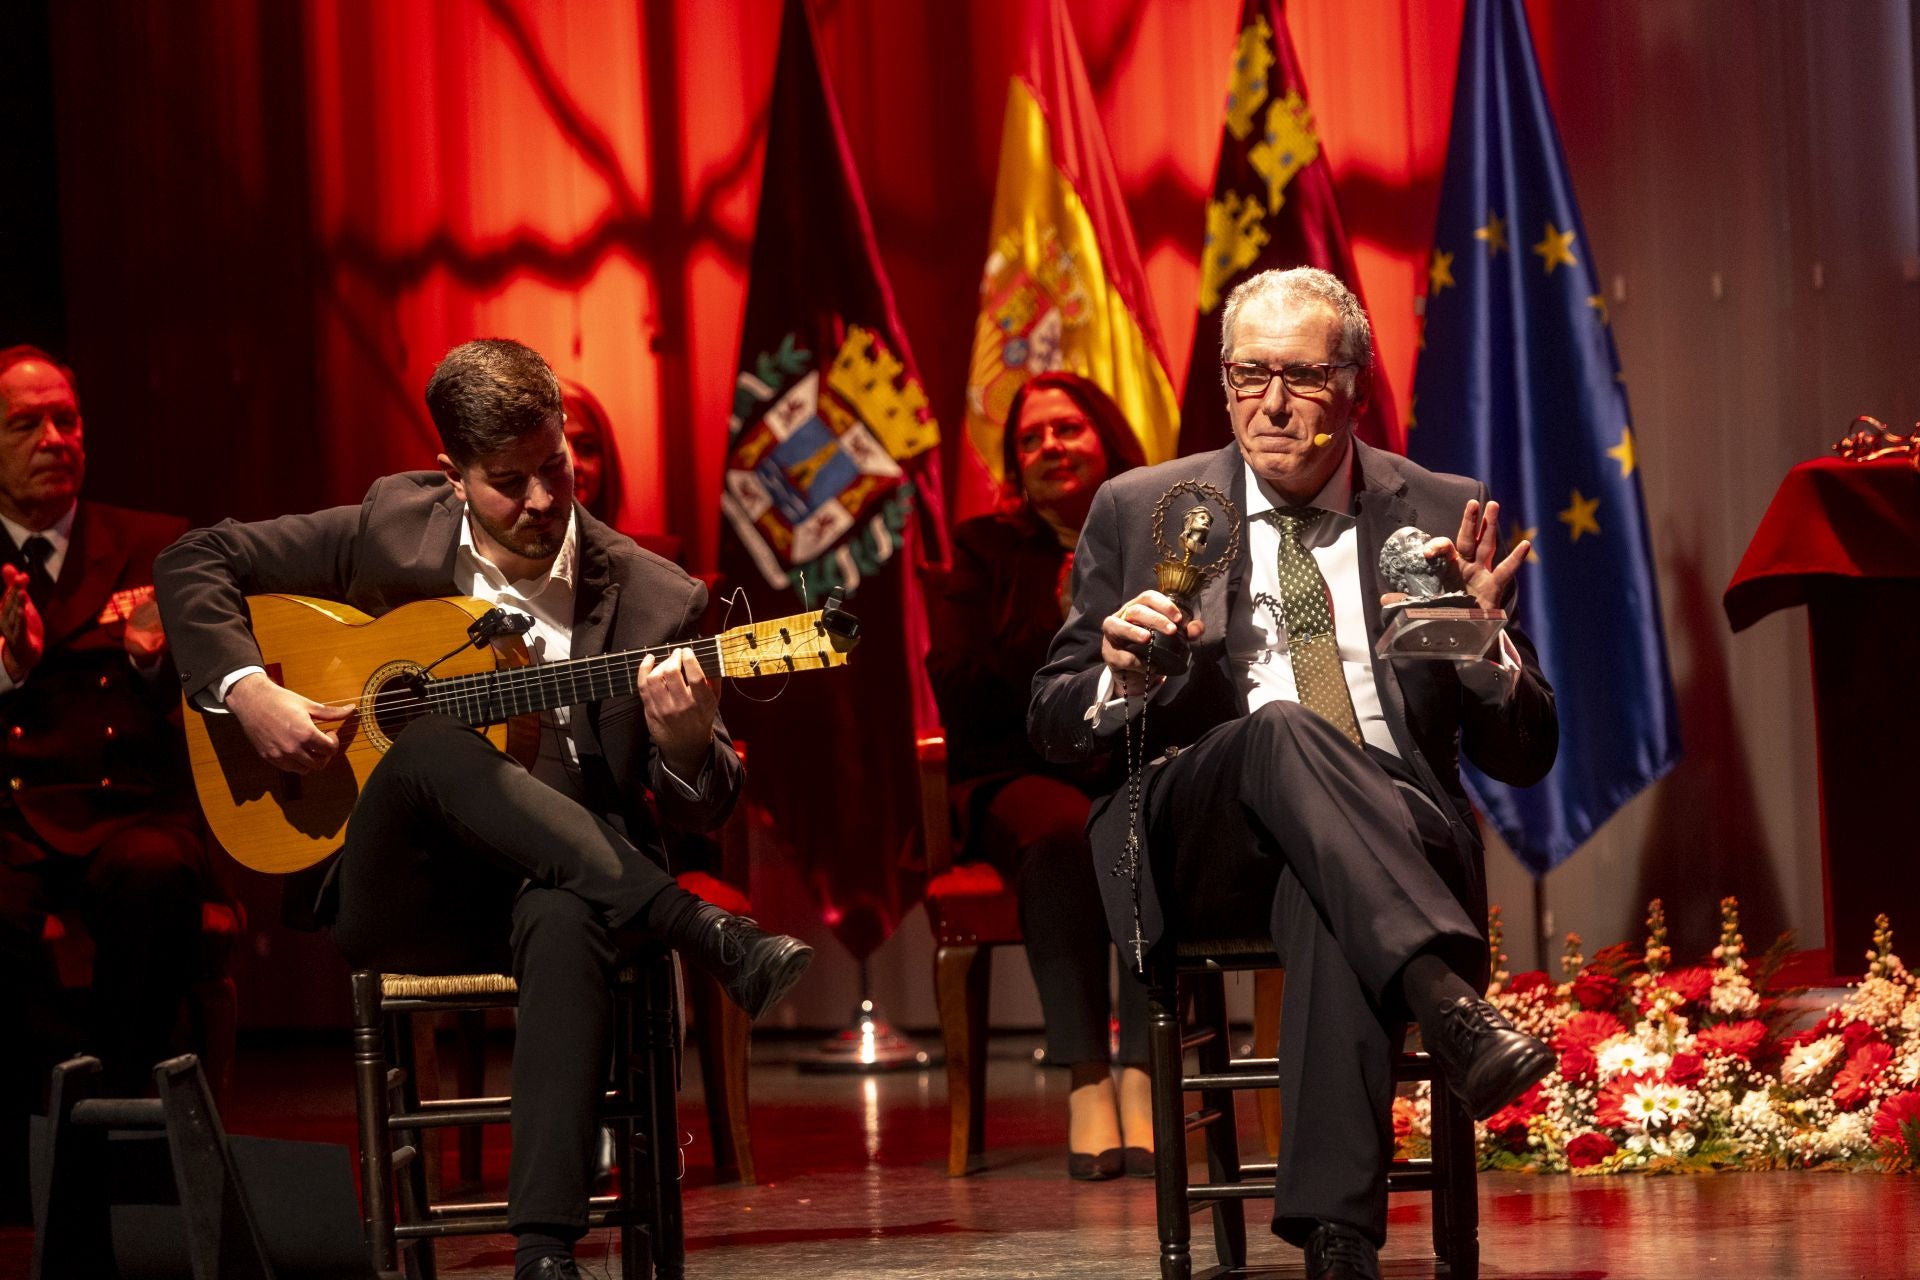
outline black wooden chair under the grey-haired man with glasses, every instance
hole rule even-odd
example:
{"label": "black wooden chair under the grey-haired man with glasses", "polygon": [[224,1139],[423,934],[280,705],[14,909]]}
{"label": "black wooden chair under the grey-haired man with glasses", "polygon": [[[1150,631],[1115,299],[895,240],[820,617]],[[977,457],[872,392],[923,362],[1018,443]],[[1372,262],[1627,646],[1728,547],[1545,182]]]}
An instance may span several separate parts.
{"label": "black wooden chair under the grey-haired man with glasses", "polygon": [[[1273,1090],[1279,1061],[1233,1057],[1227,1038],[1229,971],[1279,971],[1281,961],[1265,940],[1183,942],[1150,973],[1146,1032],[1154,1077],[1154,1184],[1160,1221],[1162,1280],[1190,1280],[1192,1224],[1196,1209],[1213,1211],[1213,1249],[1221,1270],[1246,1267],[1244,1201],[1271,1199],[1273,1161],[1240,1159],[1233,1094]],[[1192,996],[1192,1029],[1181,1029],[1181,992]],[[1279,1032],[1284,1036],[1286,1027]],[[1187,1052],[1198,1071],[1187,1073]],[[1432,1082],[1432,1157],[1394,1161],[1388,1192],[1432,1194],[1434,1253],[1452,1280],[1476,1280],[1480,1272],[1480,1209],[1475,1186],[1473,1119],[1448,1090],[1438,1065],[1421,1052],[1402,1054],[1396,1080]],[[1200,1094],[1196,1111],[1185,1094]],[[1281,1117],[1284,1125],[1286,1119]],[[1185,1134],[1204,1130],[1208,1182],[1188,1184]],[[1210,1272],[1212,1274],[1212,1272]]]}

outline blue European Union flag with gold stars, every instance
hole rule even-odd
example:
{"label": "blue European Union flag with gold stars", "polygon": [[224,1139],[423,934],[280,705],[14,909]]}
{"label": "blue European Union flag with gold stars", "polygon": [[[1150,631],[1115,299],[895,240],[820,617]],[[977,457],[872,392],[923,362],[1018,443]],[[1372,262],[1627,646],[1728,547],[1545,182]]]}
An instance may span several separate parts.
{"label": "blue European Union flag with gold stars", "polygon": [[1559,760],[1467,787],[1542,875],[1674,766],[1680,727],[1607,299],[1521,0],[1467,4],[1407,453],[1484,480],[1503,543],[1534,539],[1519,620]]}

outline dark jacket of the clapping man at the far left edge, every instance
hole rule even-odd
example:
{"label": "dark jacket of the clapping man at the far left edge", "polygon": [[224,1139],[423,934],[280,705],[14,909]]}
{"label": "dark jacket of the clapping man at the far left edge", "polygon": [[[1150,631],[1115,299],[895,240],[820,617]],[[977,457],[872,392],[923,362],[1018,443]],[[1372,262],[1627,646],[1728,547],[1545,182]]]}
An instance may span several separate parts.
{"label": "dark jacket of the clapping man at the far left edge", "polygon": [[[88,501],[73,516],[40,610],[46,649],[25,683],[0,695],[0,806],[50,848],[86,854],[156,812],[192,812],[171,668],[136,672],[121,639],[127,610],[152,591],[154,557],[184,528],[179,516]],[[6,533],[0,555],[25,568]]]}

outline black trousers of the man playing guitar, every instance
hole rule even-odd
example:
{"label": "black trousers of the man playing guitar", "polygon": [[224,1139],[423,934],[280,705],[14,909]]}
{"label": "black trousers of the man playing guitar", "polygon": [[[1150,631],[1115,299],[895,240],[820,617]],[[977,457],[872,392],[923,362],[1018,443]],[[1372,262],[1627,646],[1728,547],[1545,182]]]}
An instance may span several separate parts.
{"label": "black trousers of the man playing guitar", "polygon": [[509,969],[513,1226],[586,1226],[612,975],[672,877],[467,725],[409,725],[367,779],[323,904],[355,967]]}

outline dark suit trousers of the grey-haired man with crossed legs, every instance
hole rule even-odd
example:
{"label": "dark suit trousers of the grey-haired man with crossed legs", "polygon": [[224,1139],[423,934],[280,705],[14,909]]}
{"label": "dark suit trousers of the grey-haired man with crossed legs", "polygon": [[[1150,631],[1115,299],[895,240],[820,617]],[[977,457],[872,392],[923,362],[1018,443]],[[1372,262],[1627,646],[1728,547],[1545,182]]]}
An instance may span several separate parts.
{"label": "dark suit trousers of the grey-haired man with crossed legs", "polygon": [[1436,869],[1453,862],[1446,819],[1382,766],[1398,762],[1273,702],[1167,760],[1146,800],[1175,935],[1244,936],[1238,923],[1263,917],[1286,965],[1273,1230],[1292,1244],[1315,1221],[1384,1242],[1409,1021],[1396,979],[1421,950],[1463,975],[1486,958]]}

